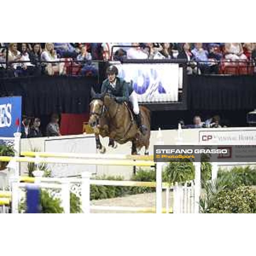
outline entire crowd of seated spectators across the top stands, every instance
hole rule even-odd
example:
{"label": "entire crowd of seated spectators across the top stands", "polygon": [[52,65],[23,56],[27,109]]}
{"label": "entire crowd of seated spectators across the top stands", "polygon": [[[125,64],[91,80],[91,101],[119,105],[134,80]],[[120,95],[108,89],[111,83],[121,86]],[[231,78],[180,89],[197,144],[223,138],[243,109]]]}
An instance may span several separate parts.
{"label": "entire crowd of seated spectators across the top stands", "polygon": [[96,61],[125,59],[185,59],[188,74],[256,72],[256,43],[1,43],[1,47],[0,69],[8,60],[8,70],[15,76],[97,76]]}

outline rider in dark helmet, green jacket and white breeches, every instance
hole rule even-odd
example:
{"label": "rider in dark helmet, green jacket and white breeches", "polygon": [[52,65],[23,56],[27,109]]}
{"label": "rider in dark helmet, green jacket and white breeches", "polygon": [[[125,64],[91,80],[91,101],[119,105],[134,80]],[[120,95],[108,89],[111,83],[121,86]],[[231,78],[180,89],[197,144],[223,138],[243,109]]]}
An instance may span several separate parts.
{"label": "rider in dark helmet, green jacket and white breeches", "polygon": [[137,126],[141,133],[145,135],[147,128],[142,124],[137,94],[134,92],[131,84],[118,77],[118,69],[116,66],[112,65],[108,67],[107,75],[108,78],[102,83],[102,94],[109,93],[115,96],[115,100],[118,103],[130,101],[133,106]]}

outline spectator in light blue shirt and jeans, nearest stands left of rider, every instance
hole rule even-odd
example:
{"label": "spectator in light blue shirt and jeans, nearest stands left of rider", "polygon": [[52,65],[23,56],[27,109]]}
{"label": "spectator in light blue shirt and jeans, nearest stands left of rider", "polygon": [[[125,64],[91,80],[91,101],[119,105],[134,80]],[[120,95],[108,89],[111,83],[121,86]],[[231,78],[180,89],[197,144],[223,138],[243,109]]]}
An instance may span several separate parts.
{"label": "spectator in light blue shirt and jeans, nearest stands left of rider", "polygon": [[91,62],[92,55],[87,52],[87,47],[84,45],[81,47],[81,53],[76,58],[78,61],[83,61],[83,67],[81,69],[81,75],[84,76],[97,76],[98,70],[96,69],[95,65]]}

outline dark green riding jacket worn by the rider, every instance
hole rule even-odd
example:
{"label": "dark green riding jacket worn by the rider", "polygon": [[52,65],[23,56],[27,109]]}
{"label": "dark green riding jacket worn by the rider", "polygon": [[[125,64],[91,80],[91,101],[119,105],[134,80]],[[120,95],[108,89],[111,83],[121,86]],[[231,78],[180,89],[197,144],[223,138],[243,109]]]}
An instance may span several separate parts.
{"label": "dark green riding jacket worn by the rider", "polygon": [[126,82],[122,78],[116,77],[116,87],[113,88],[108,79],[105,79],[102,83],[101,93],[109,93],[116,97],[116,101],[121,103],[129,100],[129,96],[133,92],[133,88],[130,83]]}

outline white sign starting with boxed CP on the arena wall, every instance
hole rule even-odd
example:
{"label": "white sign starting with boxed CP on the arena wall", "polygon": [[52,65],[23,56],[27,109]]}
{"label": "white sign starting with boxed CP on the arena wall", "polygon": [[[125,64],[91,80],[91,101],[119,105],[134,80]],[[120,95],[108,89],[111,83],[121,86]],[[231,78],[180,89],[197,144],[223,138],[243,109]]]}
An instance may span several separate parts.
{"label": "white sign starting with boxed CP on the arena wall", "polygon": [[256,145],[255,130],[214,130],[199,131],[199,143],[219,145]]}

